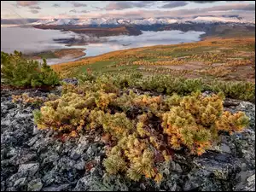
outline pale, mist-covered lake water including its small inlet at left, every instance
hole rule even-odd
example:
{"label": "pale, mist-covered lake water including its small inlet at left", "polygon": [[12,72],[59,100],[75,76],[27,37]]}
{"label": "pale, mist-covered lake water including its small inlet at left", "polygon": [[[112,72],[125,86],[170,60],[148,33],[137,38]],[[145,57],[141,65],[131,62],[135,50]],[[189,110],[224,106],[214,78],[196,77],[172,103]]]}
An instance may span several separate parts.
{"label": "pale, mist-covered lake water including its small inlet at left", "polygon": [[[67,47],[65,44],[57,44],[54,38],[79,38],[73,32],[61,32],[58,30],[41,30],[35,28],[1,27],[1,51],[13,52],[15,49],[24,53],[37,52],[48,49],[84,48],[85,56],[102,55],[114,50],[131,49],[137,47],[153,46],[160,44],[182,44],[200,40],[200,35],[205,32],[143,32],[139,36],[115,36],[102,38],[102,43],[94,43],[82,46]],[[89,37],[88,37],[89,38]],[[124,44],[126,46],[124,46]],[[82,57],[81,57],[82,58]],[[76,59],[48,59],[49,65]]]}

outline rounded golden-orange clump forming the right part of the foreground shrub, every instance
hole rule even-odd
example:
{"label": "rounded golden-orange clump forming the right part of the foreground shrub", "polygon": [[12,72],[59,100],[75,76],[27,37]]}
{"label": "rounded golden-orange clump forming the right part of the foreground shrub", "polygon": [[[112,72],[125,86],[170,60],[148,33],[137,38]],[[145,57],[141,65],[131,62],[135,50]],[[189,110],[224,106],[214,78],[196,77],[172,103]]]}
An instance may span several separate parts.
{"label": "rounded golden-orange clump forming the right part of the foreground shrub", "polygon": [[223,112],[223,97],[204,97],[199,93],[184,96],[179,106],[163,114],[164,132],[172,148],[189,148],[202,154],[210,146],[216,131],[241,131],[248,123],[245,113]]}

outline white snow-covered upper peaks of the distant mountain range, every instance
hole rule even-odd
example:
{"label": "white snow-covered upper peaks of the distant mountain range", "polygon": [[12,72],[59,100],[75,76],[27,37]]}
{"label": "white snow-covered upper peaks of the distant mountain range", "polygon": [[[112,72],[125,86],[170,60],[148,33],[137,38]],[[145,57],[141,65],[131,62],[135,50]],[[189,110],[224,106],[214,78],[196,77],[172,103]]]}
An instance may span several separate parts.
{"label": "white snow-covered upper peaks of the distant mountain range", "polygon": [[172,24],[172,23],[253,23],[255,24],[255,18],[253,20],[247,21],[242,18],[237,17],[214,17],[214,16],[198,16],[194,19],[169,19],[169,18],[145,18],[145,19],[115,19],[115,18],[86,18],[86,19],[50,19],[50,20],[38,20],[33,23],[33,25],[56,25],[56,26],[67,26],[67,25],[143,25],[150,26],[155,24]]}

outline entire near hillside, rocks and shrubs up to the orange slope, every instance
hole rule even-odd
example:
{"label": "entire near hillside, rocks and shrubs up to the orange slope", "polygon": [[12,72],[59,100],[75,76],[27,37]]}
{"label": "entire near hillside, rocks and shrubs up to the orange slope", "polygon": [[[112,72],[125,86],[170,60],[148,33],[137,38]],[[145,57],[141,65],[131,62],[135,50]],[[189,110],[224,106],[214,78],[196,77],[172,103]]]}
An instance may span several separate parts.
{"label": "entire near hillside, rocks and shrubs up to the orange slope", "polygon": [[253,191],[254,58],[255,38],[125,49],[57,73],[2,53],[3,82],[21,86],[1,84],[1,190]]}

